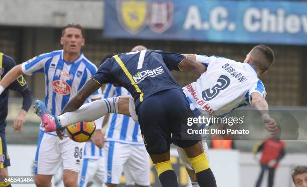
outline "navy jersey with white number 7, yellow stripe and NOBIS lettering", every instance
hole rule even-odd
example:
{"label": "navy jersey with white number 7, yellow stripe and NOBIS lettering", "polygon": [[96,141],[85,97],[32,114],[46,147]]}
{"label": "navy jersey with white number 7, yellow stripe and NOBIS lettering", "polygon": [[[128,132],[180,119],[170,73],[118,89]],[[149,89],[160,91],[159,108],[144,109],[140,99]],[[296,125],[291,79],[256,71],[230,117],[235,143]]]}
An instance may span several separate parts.
{"label": "navy jersey with white number 7, yellow stripe and NOBIS lettering", "polygon": [[121,53],[105,60],[91,79],[119,84],[126,88],[137,107],[147,97],[168,89],[182,89],[174,80],[171,70],[181,71],[183,55],[160,50],[141,50]]}

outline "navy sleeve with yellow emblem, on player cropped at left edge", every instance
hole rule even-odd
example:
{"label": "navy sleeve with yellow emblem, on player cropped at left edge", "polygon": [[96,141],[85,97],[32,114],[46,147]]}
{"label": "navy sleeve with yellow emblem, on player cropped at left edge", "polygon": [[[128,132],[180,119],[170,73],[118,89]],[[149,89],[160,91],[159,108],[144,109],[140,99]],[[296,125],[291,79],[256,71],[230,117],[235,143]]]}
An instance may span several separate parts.
{"label": "navy sleeve with yellow emblem, on player cropped at left edge", "polygon": [[[4,56],[4,59],[6,61],[6,65],[7,65],[7,68],[8,70],[12,69],[14,66],[16,66],[16,63],[15,61],[8,57],[8,56]],[[24,78],[24,76],[20,75],[19,77],[17,77],[17,79],[11,83],[8,88],[10,90],[15,90],[15,91],[18,91],[18,92],[22,92],[24,91],[26,88],[28,88],[28,84]]]}

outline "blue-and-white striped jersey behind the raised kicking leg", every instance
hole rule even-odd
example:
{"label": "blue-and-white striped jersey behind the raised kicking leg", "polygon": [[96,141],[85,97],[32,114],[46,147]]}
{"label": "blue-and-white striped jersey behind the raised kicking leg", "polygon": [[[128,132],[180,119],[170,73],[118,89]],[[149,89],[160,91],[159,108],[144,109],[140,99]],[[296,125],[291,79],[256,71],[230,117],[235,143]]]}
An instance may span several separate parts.
{"label": "blue-and-white striped jersey behind the raised kicking leg", "polygon": [[[130,93],[123,87],[114,87],[112,84],[107,84],[103,94],[104,98],[109,98],[129,95]],[[111,114],[108,123],[105,141],[144,145],[139,124],[134,122],[131,117]]]}

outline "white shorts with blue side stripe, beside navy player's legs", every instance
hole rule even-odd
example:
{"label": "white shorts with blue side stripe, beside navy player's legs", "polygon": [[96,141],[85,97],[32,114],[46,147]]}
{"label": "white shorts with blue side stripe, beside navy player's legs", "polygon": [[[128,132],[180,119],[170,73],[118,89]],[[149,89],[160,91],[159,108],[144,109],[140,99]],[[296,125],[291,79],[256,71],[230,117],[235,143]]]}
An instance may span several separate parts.
{"label": "white shorts with blue side stripe, beside navy player's legs", "polygon": [[119,184],[124,170],[127,185],[150,185],[149,155],[144,145],[131,145],[115,141],[104,144],[105,183]]}

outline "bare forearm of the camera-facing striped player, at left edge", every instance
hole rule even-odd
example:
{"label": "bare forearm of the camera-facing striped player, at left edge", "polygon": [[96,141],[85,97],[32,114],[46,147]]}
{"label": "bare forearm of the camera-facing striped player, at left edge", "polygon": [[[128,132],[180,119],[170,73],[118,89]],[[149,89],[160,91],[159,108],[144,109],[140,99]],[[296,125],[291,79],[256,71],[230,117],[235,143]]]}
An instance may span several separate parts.
{"label": "bare forearm of the camera-facing striped player, at left edge", "polygon": [[14,66],[0,81],[0,94],[13,83],[18,76],[23,75],[21,64]]}

